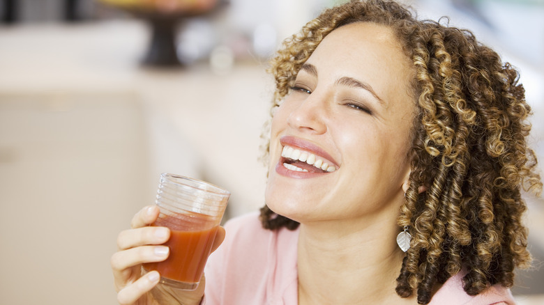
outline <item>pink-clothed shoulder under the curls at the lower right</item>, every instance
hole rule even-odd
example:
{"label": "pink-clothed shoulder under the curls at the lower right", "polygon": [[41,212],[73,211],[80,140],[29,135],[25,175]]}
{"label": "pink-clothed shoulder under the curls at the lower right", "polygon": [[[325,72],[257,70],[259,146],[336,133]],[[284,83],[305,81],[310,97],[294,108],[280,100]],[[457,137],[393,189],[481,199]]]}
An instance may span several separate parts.
{"label": "pink-clothed shoulder under the curls at the lower right", "polygon": [[432,297],[430,305],[515,304],[510,289],[498,284],[491,286],[479,295],[467,295],[463,289],[462,278],[464,274],[466,272],[459,272],[448,279]]}

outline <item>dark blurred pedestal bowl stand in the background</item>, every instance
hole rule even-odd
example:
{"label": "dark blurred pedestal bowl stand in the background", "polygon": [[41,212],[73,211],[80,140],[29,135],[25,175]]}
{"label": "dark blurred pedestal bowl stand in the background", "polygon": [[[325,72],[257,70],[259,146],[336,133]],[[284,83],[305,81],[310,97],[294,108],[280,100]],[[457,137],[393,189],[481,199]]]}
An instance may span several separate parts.
{"label": "dark blurred pedestal bowl stand in the background", "polygon": [[225,1],[192,0],[100,0],[116,8],[128,11],[135,17],[145,19],[151,25],[151,41],[144,57],[144,65],[176,67],[179,60],[176,46],[178,26],[183,19],[211,15]]}

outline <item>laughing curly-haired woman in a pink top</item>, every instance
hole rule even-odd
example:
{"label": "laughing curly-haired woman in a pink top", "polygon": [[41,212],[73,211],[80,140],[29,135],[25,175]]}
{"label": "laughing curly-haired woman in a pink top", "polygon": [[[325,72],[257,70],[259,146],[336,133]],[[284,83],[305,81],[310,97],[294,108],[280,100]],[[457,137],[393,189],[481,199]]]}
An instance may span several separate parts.
{"label": "laughing curly-haired woman in a pink top", "polygon": [[520,190],[542,183],[510,65],[371,0],[324,11],[270,70],[260,217],[230,221],[207,283],[176,292],[140,277],[169,234],[140,211],[112,257],[121,304],[513,304],[513,269],[531,260]]}

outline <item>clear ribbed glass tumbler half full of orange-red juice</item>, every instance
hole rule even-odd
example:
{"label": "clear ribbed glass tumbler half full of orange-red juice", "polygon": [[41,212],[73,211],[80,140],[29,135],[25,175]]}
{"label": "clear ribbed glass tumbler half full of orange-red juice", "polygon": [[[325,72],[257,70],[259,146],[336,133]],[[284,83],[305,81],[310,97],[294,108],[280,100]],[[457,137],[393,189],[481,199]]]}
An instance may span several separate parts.
{"label": "clear ribbed glass tumbler half full of orange-red juice", "polygon": [[227,207],[229,191],[208,182],[163,173],[157,191],[160,214],[152,226],[170,228],[170,248],[163,262],[144,264],[144,272],[157,270],[160,283],[195,290],[211,252]]}

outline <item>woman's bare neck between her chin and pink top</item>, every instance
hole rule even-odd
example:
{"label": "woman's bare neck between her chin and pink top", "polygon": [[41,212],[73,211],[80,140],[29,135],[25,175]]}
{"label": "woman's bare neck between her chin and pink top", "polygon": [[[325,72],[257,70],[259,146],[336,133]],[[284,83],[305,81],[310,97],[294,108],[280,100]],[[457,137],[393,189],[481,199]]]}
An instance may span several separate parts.
{"label": "woman's bare neck between her chin and pink top", "polygon": [[299,304],[400,303],[398,232],[396,224],[377,220],[301,224]]}

